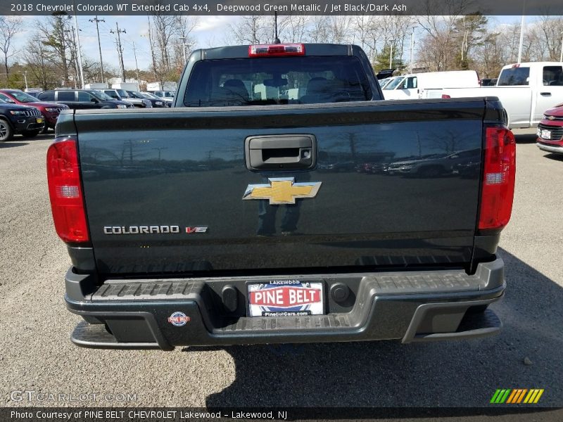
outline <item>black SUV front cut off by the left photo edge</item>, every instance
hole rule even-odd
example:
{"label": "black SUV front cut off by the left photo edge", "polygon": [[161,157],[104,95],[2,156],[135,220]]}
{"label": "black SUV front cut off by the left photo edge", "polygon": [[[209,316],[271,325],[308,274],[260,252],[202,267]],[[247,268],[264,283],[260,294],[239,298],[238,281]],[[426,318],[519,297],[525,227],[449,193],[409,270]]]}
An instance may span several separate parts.
{"label": "black SUV front cut off by the left photo edge", "polygon": [[45,119],[37,108],[0,99],[0,141],[9,141],[15,134],[37,136],[44,127]]}

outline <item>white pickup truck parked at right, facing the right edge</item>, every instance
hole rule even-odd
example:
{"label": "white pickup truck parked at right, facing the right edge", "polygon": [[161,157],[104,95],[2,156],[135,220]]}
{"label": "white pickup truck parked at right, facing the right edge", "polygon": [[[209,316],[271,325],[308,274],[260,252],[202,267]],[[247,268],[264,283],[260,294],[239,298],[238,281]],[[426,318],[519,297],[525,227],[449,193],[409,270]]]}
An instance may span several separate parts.
{"label": "white pickup truck parked at right, facing the right edge", "polygon": [[443,89],[442,98],[498,97],[511,129],[536,127],[545,110],[563,103],[563,63],[506,65],[495,87]]}

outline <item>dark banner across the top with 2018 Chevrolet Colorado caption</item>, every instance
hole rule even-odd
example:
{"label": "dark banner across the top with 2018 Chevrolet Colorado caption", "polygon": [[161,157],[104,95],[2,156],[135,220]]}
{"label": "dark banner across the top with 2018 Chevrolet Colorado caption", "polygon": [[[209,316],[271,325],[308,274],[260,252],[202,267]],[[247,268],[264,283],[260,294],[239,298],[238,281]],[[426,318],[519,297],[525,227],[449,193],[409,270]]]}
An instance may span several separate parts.
{"label": "dark banner across the top with 2018 Chevrolet Colorado caption", "polygon": [[562,0],[1,0],[0,15],[563,15]]}

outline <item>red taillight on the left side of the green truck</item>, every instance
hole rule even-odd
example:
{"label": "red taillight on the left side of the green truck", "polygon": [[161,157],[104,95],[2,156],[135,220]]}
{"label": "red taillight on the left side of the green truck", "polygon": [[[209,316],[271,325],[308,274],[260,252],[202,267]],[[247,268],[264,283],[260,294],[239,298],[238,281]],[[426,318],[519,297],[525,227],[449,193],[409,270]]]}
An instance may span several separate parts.
{"label": "red taillight on the left side of the green truck", "polygon": [[76,140],[55,140],[47,151],[47,182],[58,236],[68,243],[89,241]]}

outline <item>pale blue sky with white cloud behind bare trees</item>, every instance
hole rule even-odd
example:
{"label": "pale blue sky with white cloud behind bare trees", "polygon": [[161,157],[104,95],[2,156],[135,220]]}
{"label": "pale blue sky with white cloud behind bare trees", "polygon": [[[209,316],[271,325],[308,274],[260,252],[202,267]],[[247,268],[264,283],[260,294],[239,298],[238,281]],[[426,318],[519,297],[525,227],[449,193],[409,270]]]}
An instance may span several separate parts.
{"label": "pale blue sky with white cloud behind bare trees", "polygon": [[[0,0],[1,1],[1,0]],[[22,16],[24,31],[15,38],[15,49],[23,49],[27,38],[30,37],[34,30],[34,21],[44,19],[37,16]],[[96,35],[96,24],[90,22],[94,16],[78,16],[78,27],[80,28],[80,44],[84,56],[99,62],[98,37]],[[101,52],[104,64],[110,63],[114,68],[118,69],[118,52],[115,47],[115,34],[111,34],[110,30],[115,32],[115,23],[118,23],[120,30],[125,30],[125,34],[121,34],[121,42],[123,46],[123,60],[126,69],[135,68],[135,58],[133,52],[133,43],[137,49],[137,60],[139,70],[147,70],[151,62],[151,50],[148,44],[148,21],[146,16],[98,16],[105,22],[99,23]],[[227,25],[236,23],[239,17],[236,16],[200,16],[198,17],[198,27],[193,32],[196,39],[196,45],[193,49],[209,48],[213,46],[221,46],[225,44],[227,37]],[[526,17],[528,23],[535,19],[533,16]],[[519,23],[519,16],[493,16],[490,18],[491,25],[514,24]],[[72,20],[74,23],[74,20]],[[417,33],[415,32],[415,41]],[[180,43],[180,41],[177,41]],[[406,51],[407,49],[405,49]]]}

